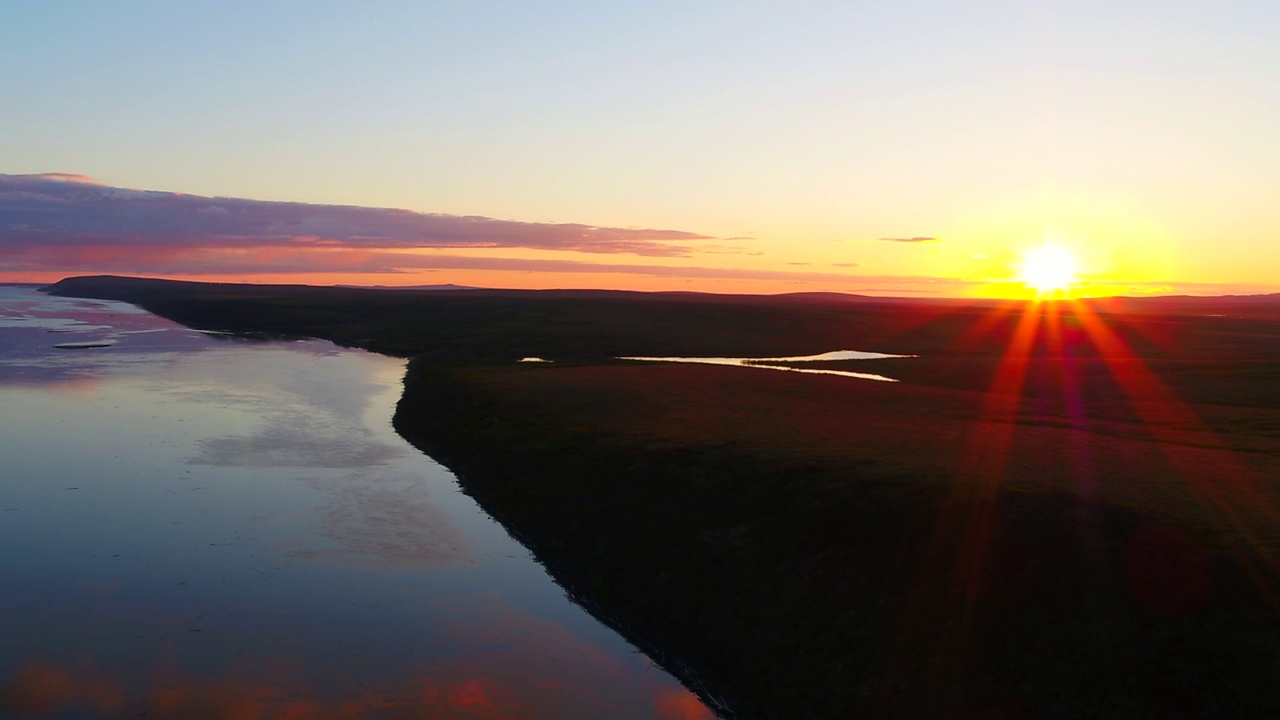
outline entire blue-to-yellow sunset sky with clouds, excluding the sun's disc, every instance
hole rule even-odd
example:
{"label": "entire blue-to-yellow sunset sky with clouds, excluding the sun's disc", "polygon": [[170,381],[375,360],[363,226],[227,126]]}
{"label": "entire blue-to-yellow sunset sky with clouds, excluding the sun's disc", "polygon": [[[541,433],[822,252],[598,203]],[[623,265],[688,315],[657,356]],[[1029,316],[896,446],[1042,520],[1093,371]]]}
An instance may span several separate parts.
{"label": "entire blue-to-yellow sunset sky with clouds, excluding the sun's disc", "polygon": [[0,0],[0,282],[1280,291],[1270,1]]}

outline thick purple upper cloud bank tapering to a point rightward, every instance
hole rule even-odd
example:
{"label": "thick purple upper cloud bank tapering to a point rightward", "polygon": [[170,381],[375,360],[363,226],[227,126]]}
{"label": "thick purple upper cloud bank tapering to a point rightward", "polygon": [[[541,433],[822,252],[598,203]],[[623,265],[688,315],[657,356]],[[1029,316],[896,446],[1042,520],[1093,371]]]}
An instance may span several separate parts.
{"label": "thick purple upper cloud bank tapering to a point rightward", "polygon": [[65,173],[0,174],[0,251],[59,249],[534,249],[681,258],[708,236],[388,208],[127,190]]}

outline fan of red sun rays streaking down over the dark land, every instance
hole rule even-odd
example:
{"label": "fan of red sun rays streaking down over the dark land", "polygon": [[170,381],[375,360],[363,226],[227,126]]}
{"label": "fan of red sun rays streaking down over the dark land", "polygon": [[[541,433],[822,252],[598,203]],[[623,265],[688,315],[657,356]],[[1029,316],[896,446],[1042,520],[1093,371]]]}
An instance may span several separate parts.
{"label": "fan of red sun rays streaking down over the dark land", "polygon": [[[1020,313],[1011,313],[1011,306],[992,307],[963,333],[970,341],[988,333],[1007,333],[1007,340],[978,406],[974,432],[957,457],[952,488],[931,514],[928,539],[908,580],[913,591],[901,610],[901,626],[928,625],[936,632],[928,641],[900,643],[887,657],[890,674],[923,674],[920,679],[933,685],[937,697],[965,682],[973,643],[987,621],[982,614],[986,593],[993,591],[1000,571],[1002,486],[1010,479],[1010,464],[1021,442],[1023,414],[1038,413],[1038,405],[1029,404],[1036,400],[1033,384],[1056,387],[1060,393],[1056,411],[1070,429],[1068,480],[1082,498],[1082,511],[1103,502],[1106,487],[1088,437],[1096,432],[1088,413],[1096,397],[1088,396],[1092,386],[1084,380],[1093,368],[1110,374],[1208,521],[1243,541],[1234,552],[1236,561],[1263,597],[1280,609],[1280,594],[1266,580],[1280,568],[1267,530],[1280,525],[1280,500],[1258,471],[1164,384],[1147,360],[1129,347],[1126,327],[1116,327],[1117,320],[1100,316],[1079,300],[1019,305]],[[995,332],[997,328],[1004,331]],[[1188,433],[1197,436],[1193,443],[1188,443]],[[1089,523],[1078,532],[1084,533],[1085,544],[1101,542]],[[910,635],[908,630],[901,634]],[[913,661],[919,657],[929,660],[923,665]]]}

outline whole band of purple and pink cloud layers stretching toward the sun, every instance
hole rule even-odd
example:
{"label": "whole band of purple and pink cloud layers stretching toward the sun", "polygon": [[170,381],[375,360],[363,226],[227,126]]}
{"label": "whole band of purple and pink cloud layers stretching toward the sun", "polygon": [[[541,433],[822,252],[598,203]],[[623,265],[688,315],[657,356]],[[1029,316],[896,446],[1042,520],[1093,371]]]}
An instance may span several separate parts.
{"label": "whole band of purple and pink cloud layers stretching toward the sun", "polygon": [[[710,258],[717,255],[759,255],[735,247],[732,242],[737,240],[744,238],[716,238],[677,229],[204,197],[113,187],[65,173],[0,174],[0,274],[22,277],[111,273],[248,279],[489,270],[684,282],[760,281],[846,290],[891,283],[929,288],[924,292],[969,284],[844,272],[856,268],[856,263],[837,263],[827,270],[800,263],[777,269],[716,266],[718,263]],[[515,256],[527,251],[562,251],[564,256]],[[695,255],[704,258],[707,265],[690,265]],[[631,261],[623,256],[631,256]],[[635,256],[652,260],[636,261]]]}

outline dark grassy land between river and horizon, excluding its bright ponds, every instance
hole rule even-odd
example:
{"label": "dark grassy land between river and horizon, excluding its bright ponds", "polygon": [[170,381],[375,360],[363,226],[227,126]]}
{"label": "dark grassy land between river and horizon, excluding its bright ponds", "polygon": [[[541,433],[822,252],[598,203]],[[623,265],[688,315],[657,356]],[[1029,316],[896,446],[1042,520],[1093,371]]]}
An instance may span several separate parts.
{"label": "dark grassy land between river and horizon, excluding its bright ponds", "polygon": [[[399,432],[726,715],[1280,716],[1274,297],[51,292],[412,357]],[[919,357],[612,360],[845,348]]]}

